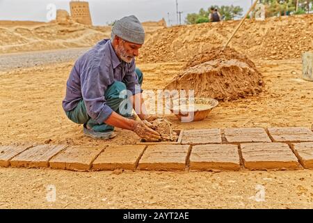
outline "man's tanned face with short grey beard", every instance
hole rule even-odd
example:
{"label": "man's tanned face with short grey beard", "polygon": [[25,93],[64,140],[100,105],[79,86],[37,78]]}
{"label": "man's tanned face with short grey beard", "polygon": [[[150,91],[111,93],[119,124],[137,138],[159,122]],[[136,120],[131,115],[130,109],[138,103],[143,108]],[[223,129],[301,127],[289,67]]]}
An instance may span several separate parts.
{"label": "man's tanned face with short grey beard", "polygon": [[131,61],[135,58],[135,56],[139,55],[139,49],[143,46],[136,43],[130,43],[125,40],[122,40],[119,37],[117,39],[117,47],[116,47],[116,54],[120,56],[122,61],[126,63],[131,63]]}

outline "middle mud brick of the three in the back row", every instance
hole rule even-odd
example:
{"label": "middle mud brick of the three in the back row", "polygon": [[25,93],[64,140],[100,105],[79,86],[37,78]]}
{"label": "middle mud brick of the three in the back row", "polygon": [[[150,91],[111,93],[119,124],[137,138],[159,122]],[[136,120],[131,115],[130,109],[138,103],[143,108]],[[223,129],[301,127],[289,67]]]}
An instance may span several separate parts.
{"label": "middle mud brick of the three in the back row", "polygon": [[225,137],[229,142],[271,142],[264,128],[227,128]]}

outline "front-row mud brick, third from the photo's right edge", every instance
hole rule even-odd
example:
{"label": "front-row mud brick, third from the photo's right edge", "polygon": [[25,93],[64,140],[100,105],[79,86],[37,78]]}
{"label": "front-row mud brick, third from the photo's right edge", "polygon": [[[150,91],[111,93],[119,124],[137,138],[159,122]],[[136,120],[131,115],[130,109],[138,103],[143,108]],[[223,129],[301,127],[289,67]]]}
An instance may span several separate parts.
{"label": "front-row mud brick, third from the photo's right edge", "polygon": [[189,169],[200,171],[214,169],[239,170],[238,146],[221,144],[193,146]]}

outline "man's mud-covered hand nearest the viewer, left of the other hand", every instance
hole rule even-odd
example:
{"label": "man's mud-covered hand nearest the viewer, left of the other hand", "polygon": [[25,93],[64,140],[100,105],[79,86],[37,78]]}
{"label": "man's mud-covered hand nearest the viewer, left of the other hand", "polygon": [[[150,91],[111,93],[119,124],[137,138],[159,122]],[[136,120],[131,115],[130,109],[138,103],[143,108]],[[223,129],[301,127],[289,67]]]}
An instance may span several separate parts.
{"label": "man's mud-covered hand nearest the viewer, left of the other hand", "polygon": [[147,127],[143,121],[135,121],[133,131],[138,134],[141,139],[145,139],[146,141],[159,141],[161,139],[159,132]]}

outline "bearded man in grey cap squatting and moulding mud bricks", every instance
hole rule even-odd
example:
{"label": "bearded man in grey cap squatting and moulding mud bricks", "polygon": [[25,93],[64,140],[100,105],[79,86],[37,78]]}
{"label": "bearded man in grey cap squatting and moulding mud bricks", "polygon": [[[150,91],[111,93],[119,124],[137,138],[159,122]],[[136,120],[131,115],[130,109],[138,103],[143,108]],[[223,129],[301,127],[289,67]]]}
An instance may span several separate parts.
{"label": "bearded man in grey cap squatting and moulding mud bricks", "polygon": [[[134,15],[123,17],[115,22],[111,36],[74,64],[63,100],[65,114],[74,123],[83,124],[83,134],[94,139],[112,139],[116,127],[158,141],[160,134],[147,122],[157,117],[147,114],[141,90],[143,73],[135,64],[145,41],[143,26]],[[143,121],[129,118],[133,107]]]}

